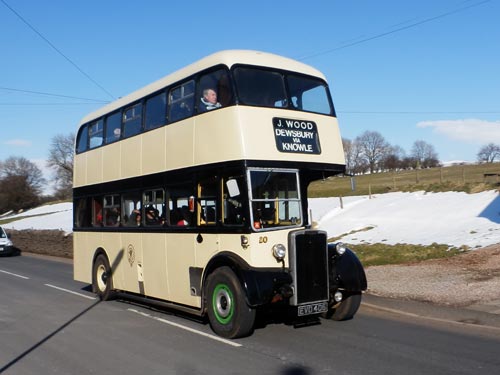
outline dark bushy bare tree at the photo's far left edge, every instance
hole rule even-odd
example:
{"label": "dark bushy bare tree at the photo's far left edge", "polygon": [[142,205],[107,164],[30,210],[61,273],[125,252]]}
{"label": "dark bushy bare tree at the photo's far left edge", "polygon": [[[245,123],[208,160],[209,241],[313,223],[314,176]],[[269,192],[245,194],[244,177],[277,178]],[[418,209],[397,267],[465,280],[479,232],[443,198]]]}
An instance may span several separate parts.
{"label": "dark bushy bare tree at the photo's far left edge", "polygon": [[36,206],[45,179],[28,159],[10,157],[0,164],[0,210],[20,210]]}

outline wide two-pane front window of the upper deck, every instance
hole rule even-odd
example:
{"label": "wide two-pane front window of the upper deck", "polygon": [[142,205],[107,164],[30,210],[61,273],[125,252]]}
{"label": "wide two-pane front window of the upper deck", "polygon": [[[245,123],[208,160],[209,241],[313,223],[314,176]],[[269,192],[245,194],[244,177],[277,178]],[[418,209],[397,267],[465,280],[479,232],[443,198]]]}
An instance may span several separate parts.
{"label": "wide two-pane front window of the upper deck", "polygon": [[334,114],[321,79],[254,67],[235,68],[234,79],[240,104]]}

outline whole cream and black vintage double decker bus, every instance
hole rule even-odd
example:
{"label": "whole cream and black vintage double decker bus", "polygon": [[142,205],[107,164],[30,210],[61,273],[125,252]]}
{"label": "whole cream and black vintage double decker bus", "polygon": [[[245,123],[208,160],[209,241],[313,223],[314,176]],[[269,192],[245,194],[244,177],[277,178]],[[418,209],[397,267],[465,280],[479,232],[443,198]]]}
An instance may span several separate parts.
{"label": "whole cream and black vintage double decker bus", "polygon": [[74,278],[253,332],[272,309],[356,313],[363,267],[308,212],[311,181],[343,173],[325,77],[222,51],[83,118],[74,159]]}

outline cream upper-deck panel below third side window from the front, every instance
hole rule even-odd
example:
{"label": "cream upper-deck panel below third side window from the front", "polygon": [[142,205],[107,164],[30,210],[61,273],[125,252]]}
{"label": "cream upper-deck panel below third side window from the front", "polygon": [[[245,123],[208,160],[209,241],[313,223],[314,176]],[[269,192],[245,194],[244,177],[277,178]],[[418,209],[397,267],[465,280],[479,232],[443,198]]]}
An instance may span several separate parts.
{"label": "cream upper-deck panel below third side window from the front", "polygon": [[142,136],[142,173],[152,174],[166,169],[167,147],[166,133],[167,127],[162,127],[155,131],[146,132]]}

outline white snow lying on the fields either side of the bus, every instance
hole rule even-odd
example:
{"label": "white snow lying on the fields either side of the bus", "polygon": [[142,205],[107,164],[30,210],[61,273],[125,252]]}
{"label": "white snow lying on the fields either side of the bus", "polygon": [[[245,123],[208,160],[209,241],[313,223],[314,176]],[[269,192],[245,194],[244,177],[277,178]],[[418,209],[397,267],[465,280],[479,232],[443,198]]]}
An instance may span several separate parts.
{"label": "white snow lying on the fields either side of the bus", "polygon": [[[329,237],[343,235],[342,241],[352,244],[436,242],[476,248],[500,243],[500,195],[494,191],[346,197],[343,206],[339,198],[309,200],[319,228]],[[5,228],[72,231],[71,203],[47,205],[14,217],[19,220]]]}

